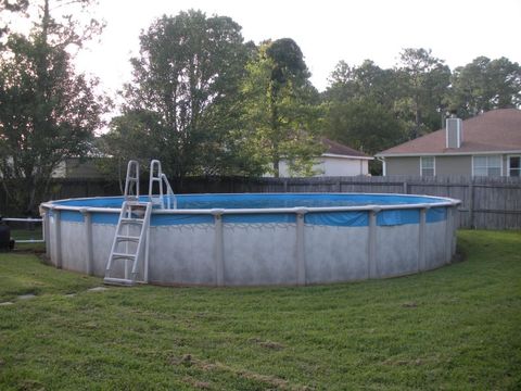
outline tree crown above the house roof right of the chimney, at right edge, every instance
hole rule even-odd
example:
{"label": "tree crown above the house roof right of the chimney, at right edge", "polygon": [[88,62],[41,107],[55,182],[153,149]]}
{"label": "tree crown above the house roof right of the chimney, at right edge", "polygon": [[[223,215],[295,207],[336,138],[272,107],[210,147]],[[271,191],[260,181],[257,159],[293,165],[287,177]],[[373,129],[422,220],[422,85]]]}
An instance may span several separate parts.
{"label": "tree crown above the house roof right of the chimney, at right edge", "polygon": [[506,58],[479,56],[454,70],[449,110],[468,118],[494,109],[521,104],[521,66]]}

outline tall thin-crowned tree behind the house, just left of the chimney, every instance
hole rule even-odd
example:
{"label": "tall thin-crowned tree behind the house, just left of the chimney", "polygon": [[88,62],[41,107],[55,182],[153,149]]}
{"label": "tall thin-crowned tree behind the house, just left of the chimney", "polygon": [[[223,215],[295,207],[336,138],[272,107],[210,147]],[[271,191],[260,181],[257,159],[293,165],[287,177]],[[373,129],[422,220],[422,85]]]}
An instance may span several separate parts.
{"label": "tall thin-crowned tree behind the house, just left of the chimney", "polygon": [[440,128],[440,113],[446,110],[450,70],[431,50],[405,49],[397,70],[403,98],[401,116],[410,122],[409,138]]}

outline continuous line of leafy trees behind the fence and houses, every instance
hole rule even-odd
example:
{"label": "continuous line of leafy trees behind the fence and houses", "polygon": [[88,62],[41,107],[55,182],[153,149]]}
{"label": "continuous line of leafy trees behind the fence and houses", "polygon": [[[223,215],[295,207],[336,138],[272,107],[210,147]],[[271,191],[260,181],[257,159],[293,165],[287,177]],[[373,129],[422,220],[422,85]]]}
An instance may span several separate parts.
{"label": "continuous line of leafy trees behind the fence and houses", "polygon": [[[519,64],[479,56],[452,71],[425,49],[404,49],[393,68],[341,61],[319,92],[293,39],[255,45],[230,17],[190,10],[141,33],[119,114],[104,122],[114,106],[72,54],[103,28],[78,17],[92,0],[33,3],[30,34],[0,25],[0,175],[21,211],[37,207],[71,156],[113,156],[107,173],[155,157],[181,179],[278,176],[281,160],[308,175],[321,137],[373,154],[441,128],[449,113],[467,118],[521,104]],[[28,7],[1,0],[0,14],[29,17]],[[109,130],[94,137],[101,128]]]}

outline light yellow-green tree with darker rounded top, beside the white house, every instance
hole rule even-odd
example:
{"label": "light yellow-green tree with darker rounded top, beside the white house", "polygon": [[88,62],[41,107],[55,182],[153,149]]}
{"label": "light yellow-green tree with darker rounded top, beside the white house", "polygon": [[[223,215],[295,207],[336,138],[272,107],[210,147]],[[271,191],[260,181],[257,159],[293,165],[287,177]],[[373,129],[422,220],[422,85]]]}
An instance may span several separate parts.
{"label": "light yellow-green tree with darker rounded top, beside the white house", "polygon": [[253,156],[276,177],[282,160],[291,174],[310,174],[322,152],[319,100],[301,49],[290,38],[266,41],[246,71],[243,137],[255,147]]}

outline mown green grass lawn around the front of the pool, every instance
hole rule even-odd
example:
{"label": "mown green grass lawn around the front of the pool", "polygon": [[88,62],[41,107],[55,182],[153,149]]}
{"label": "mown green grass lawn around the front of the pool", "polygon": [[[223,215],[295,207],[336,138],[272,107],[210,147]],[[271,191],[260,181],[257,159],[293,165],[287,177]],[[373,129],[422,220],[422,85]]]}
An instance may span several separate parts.
{"label": "mown green grass lawn around the front of the pool", "polygon": [[0,390],[519,390],[521,231],[458,239],[448,267],[305,288],[89,291],[0,254]]}

